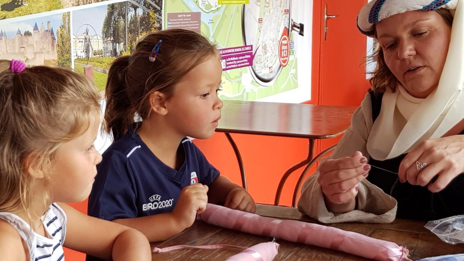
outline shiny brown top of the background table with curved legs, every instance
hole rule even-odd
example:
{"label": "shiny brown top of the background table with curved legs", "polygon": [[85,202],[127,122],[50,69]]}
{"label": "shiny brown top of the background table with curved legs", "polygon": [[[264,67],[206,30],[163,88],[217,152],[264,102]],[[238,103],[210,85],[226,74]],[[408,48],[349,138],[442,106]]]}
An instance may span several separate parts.
{"label": "shiny brown top of the background table with curved legs", "polygon": [[216,131],[327,139],[342,134],[356,107],[224,101]]}

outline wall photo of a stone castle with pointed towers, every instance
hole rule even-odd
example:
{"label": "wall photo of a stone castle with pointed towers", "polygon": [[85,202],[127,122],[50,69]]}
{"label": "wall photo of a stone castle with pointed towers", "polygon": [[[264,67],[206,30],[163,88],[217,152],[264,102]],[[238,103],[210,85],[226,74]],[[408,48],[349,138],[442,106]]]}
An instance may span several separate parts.
{"label": "wall photo of a stone castle with pointed towers", "polygon": [[0,59],[70,67],[70,13],[0,23]]}

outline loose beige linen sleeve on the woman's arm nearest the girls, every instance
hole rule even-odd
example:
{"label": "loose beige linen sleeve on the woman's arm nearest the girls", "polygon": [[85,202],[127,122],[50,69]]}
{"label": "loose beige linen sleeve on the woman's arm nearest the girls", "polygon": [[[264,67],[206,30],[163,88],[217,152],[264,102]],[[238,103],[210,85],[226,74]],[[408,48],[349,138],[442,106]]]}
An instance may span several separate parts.
{"label": "loose beige linen sleeve on the woman's arm nearest the girls", "polygon": [[[361,151],[369,159],[367,153],[367,137],[372,128],[372,105],[369,93],[351,118],[351,125],[336,146],[330,158],[352,156],[354,151]],[[324,159],[322,159],[324,160]],[[396,200],[384,193],[380,188],[367,180],[359,186],[357,209],[344,214],[330,212],[324,202],[322,189],[317,182],[319,171],[309,176],[304,182],[298,210],[322,223],[369,222],[389,223],[396,216]]]}

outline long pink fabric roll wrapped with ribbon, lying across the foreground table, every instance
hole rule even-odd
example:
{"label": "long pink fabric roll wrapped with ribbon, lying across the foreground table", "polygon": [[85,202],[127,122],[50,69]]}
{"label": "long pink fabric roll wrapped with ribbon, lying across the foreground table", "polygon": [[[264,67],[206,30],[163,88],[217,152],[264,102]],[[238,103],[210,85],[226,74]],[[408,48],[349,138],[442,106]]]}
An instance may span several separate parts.
{"label": "long pink fabric roll wrapped with ribbon, lying across the foreground table", "polygon": [[197,218],[223,228],[331,248],[378,261],[410,261],[409,250],[404,247],[339,228],[264,217],[214,204],[208,204]]}

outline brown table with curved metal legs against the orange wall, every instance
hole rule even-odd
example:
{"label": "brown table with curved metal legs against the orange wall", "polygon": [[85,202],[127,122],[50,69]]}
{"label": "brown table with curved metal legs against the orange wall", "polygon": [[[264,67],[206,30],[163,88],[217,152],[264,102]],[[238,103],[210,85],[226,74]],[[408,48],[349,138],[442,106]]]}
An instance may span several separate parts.
{"label": "brown table with curved metal legs against the orange wall", "polygon": [[346,106],[224,101],[222,118],[216,131],[224,132],[232,145],[245,189],[245,168],[237,144],[230,133],[307,138],[308,157],[284,173],[277,187],[274,202],[275,205],[279,205],[282,189],[290,174],[306,166],[293,193],[292,206],[296,206],[297,193],[308,170],[317,160],[335,148],[335,145],[331,146],[314,156],[314,141],[337,137],[344,133],[355,110],[356,107]]}

